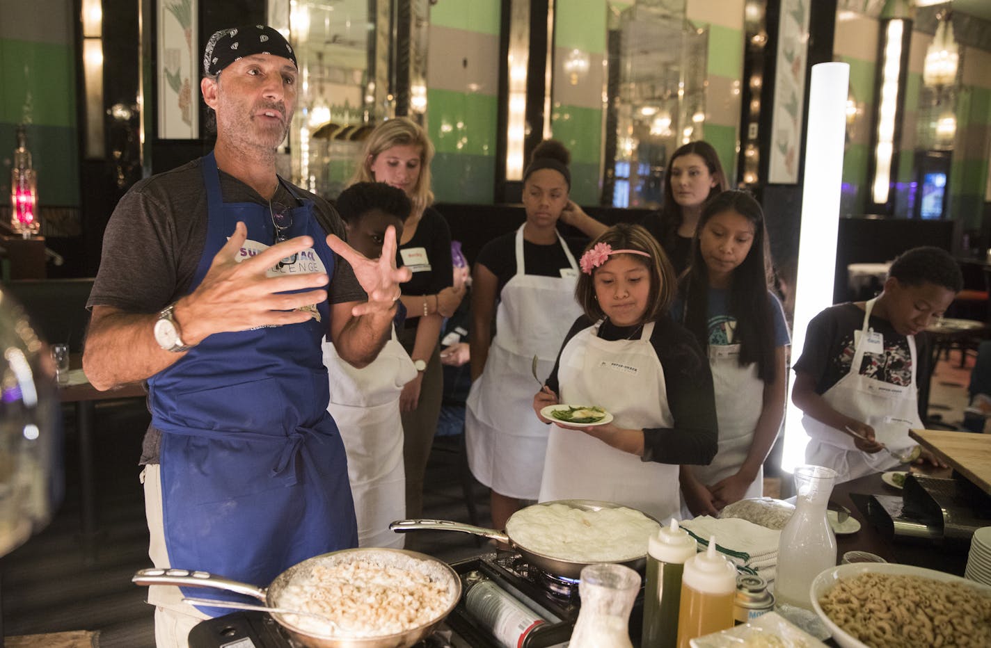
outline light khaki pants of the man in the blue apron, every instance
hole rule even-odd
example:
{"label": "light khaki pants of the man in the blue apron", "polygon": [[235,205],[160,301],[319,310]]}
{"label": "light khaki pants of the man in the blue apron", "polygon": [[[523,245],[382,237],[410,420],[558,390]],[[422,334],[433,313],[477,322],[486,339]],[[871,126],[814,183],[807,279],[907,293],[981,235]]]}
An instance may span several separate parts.
{"label": "light khaki pants of the man in the blue apron", "polygon": [[[165,551],[165,526],[162,521],[162,473],[158,464],[149,465],[141,474],[145,485],[145,517],[148,519],[150,540],[148,555],[159,569],[168,569],[168,553]],[[195,565],[179,565],[183,569],[196,569]],[[182,602],[182,593],[172,586],[152,586],[148,589],[148,602],[155,605],[155,645],[158,648],[188,648],[189,631],[194,625],[210,618],[188,603]]]}

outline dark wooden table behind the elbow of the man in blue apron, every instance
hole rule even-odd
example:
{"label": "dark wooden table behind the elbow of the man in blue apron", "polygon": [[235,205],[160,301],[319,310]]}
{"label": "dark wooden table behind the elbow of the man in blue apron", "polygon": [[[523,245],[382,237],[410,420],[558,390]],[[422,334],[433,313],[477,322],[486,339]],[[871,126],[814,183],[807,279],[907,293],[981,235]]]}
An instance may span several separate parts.
{"label": "dark wooden table behind the elbow of the man in blue apron", "polygon": [[[78,359],[73,359],[73,364]],[[145,385],[133,382],[116,389],[100,391],[82,374],[82,370],[69,372],[69,382],[58,384],[58,395],[64,403],[74,403],[76,431],[79,435],[79,499],[83,555],[86,562],[96,560],[96,486],[93,475],[93,411],[98,400],[120,398],[144,398]]]}

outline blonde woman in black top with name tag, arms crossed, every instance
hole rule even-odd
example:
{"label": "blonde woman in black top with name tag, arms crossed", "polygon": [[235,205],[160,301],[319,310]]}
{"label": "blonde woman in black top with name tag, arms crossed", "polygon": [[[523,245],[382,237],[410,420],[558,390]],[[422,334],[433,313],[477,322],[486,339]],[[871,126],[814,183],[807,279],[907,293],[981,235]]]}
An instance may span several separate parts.
{"label": "blonde woman in black top with name tag, arms crossed", "polygon": [[397,331],[399,343],[417,370],[416,378],[406,383],[399,396],[408,517],[419,517],[423,508],[423,475],[440,415],[440,327],[465,293],[464,285],[452,287],[451,231],[444,217],[430,206],[433,155],[433,145],[420,126],[405,117],[390,119],[365,141],[361,162],[349,183],[385,182],[402,189],[413,203],[396,253],[396,265],[413,272],[401,286],[406,317]]}

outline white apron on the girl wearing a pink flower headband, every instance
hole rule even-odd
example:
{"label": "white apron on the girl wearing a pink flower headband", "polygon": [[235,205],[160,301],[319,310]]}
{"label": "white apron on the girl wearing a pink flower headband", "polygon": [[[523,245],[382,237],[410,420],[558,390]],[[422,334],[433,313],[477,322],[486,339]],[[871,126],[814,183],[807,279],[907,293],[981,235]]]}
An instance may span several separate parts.
{"label": "white apron on the girl wearing a pink flower headband", "polygon": [[[559,399],[601,405],[621,428],[670,428],[664,370],[650,344],[654,323],[637,340],[599,338],[602,321],[561,352]],[[579,430],[550,427],[540,501],[599,499],[637,508],[659,520],[679,517],[678,466],[640,461]]]}

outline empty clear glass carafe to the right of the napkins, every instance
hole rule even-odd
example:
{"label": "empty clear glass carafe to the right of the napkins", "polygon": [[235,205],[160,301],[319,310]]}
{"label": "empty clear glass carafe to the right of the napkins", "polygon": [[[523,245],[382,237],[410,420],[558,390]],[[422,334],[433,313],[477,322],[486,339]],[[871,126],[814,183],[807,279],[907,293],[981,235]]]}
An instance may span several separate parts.
{"label": "empty clear glass carafe to the right of the napkins", "polygon": [[795,469],[795,512],[781,530],[774,595],[778,604],[812,609],[809,588],[819,574],[836,565],[836,536],[826,504],[836,473],[822,466]]}

